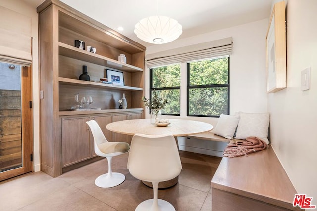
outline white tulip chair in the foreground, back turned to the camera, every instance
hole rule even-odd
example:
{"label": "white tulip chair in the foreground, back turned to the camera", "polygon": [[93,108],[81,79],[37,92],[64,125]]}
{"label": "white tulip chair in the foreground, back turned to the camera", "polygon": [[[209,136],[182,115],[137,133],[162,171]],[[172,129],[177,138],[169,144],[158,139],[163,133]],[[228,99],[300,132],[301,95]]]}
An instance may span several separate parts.
{"label": "white tulip chair in the foreground, back turned to the camera", "polygon": [[153,199],[140,203],[136,211],[175,211],[171,203],[158,199],[159,182],[175,178],[182,170],[172,135],[135,134],[131,141],[128,169],[132,176],[152,182],[153,186]]}

